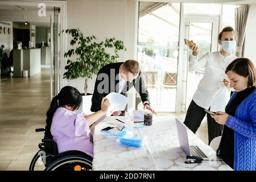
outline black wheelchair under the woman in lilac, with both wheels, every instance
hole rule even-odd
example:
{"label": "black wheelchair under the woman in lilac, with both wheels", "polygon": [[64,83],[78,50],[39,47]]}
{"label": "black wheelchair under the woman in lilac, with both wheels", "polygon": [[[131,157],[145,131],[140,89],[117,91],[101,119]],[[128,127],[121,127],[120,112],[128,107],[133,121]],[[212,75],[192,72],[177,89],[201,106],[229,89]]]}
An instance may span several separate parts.
{"label": "black wheelchair under the woman in lilac, with both wheels", "polygon": [[[36,132],[46,131],[36,129]],[[40,150],[36,152],[30,163],[29,171],[37,169],[44,171],[90,171],[92,170],[92,156],[81,151],[71,150],[58,153],[57,143],[51,139],[42,139],[38,144]]]}

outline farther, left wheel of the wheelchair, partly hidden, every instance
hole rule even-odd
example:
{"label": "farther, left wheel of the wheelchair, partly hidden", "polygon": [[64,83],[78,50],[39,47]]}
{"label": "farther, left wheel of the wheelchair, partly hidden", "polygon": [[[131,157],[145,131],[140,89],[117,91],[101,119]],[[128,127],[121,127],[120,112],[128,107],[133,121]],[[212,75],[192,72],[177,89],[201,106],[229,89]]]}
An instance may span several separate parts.
{"label": "farther, left wheel of the wheelchair, partly hidden", "polygon": [[43,171],[44,169],[46,169],[45,160],[45,152],[39,150],[38,152],[36,152],[34,158],[31,160],[30,168],[28,169],[28,171]]}

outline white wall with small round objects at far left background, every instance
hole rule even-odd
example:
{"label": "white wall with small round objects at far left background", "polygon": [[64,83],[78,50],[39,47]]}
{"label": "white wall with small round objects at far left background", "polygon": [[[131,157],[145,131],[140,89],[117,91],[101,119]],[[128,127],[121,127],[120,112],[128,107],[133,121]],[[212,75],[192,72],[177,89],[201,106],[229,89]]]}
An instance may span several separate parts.
{"label": "white wall with small round objects at far left background", "polygon": [[[13,49],[13,22],[5,22],[0,20],[0,27],[2,30],[6,27],[6,34],[0,34],[0,46],[5,46],[4,51],[7,53],[8,57],[11,49]],[[11,33],[8,34],[8,28],[11,28]]]}

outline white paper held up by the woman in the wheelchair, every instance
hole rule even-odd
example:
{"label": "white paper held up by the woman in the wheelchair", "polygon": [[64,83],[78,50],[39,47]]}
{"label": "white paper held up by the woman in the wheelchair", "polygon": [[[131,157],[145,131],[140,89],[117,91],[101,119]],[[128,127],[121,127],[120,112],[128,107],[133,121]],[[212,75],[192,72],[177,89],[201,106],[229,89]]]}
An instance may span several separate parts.
{"label": "white paper held up by the woman in the wheelchair", "polygon": [[122,94],[111,92],[106,96],[110,102],[109,110],[106,116],[109,117],[114,111],[125,110],[128,102],[128,98]]}

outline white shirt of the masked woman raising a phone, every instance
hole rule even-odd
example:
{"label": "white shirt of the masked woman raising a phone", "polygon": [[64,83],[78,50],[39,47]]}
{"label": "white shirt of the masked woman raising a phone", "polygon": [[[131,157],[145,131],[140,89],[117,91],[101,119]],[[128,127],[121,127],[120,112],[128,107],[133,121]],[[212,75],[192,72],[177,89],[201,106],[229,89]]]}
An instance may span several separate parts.
{"label": "white shirt of the masked woman raising a phone", "polygon": [[193,71],[204,69],[203,78],[200,80],[193,101],[204,109],[211,111],[225,111],[225,106],[230,98],[230,89],[224,85],[226,67],[237,57],[230,54],[223,56],[220,52],[207,52],[201,59],[191,56],[189,68]]}

